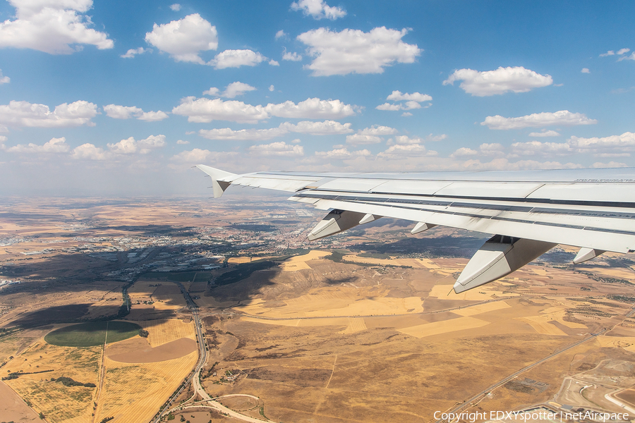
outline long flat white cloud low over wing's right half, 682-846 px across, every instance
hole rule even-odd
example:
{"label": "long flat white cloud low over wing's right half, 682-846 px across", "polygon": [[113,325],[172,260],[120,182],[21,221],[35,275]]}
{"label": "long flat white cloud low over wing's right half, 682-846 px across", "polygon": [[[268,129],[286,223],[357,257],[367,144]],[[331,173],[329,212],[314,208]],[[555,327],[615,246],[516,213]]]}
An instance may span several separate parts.
{"label": "long flat white cloud low over wing's right half, 682-846 px across", "polygon": [[595,119],[586,117],[585,114],[571,113],[568,110],[560,110],[555,113],[545,111],[518,118],[504,118],[503,116],[488,116],[481,125],[487,125],[490,129],[521,129],[539,128],[541,126],[554,125],[593,125],[598,123]]}

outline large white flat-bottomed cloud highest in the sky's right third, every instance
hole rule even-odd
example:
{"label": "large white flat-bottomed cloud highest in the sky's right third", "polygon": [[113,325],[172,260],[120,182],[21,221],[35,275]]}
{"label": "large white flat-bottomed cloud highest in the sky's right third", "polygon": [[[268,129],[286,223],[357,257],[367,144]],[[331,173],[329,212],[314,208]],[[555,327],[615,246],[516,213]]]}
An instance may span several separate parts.
{"label": "large white flat-bottomed cloud highest in the sky's right third", "polygon": [[528,92],[533,88],[546,87],[553,83],[550,75],[540,75],[522,66],[500,67],[495,71],[473,71],[457,69],[443,81],[443,85],[461,82],[461,87],[468,94],[476,97],[504,94],[505,92]]}

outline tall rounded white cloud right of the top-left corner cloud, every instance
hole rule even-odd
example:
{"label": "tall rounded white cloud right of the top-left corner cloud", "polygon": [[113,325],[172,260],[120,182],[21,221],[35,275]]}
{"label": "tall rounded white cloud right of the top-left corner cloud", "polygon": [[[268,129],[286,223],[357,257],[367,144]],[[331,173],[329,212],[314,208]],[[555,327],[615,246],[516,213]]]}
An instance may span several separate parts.
{"label": "tall rounded white cloud right of the top-left corner cloud", "polygon": [[175,61],[205,64],[200,51],[218,48],[216,27],[200,17],[198,13],[181,20],[155,25],[145,34],[145,41],[160,51],[170,54]]}

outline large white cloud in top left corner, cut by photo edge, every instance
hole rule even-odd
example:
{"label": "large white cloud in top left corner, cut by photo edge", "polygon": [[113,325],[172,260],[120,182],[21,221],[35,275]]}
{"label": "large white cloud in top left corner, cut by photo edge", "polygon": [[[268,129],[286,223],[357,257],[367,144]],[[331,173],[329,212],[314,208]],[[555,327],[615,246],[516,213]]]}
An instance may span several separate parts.
{"label": "large white cloud in top left corner, cut by photo edge", "polygon": [[93,30],[83,13],[92,0],[9,0],[16,19],[0,23],[0,47],[34,49],[49,54],[71,54],[90,44],[111,49],[105,32]]}

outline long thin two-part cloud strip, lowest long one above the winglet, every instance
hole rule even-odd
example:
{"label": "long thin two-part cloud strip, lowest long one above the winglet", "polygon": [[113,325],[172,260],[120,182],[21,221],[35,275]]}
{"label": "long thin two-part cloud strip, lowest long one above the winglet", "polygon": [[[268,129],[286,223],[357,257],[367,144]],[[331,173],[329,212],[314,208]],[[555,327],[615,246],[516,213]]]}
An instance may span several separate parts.
{"label": "long thin two-part cloud strip, lowest long one above the winglet", "polygon": [[287,133],[306,133],[310,135],[334,135],[351,133],[351,123],[339,123],[336,121],[312,122],[301,121],[297,124],[284,122],[278,128],[270,129],[241,129],[231,128],[202,129],[199,131],[202,137],[210,140],[249,140],[265,141],[285,135]]}

